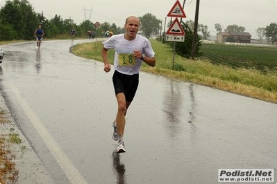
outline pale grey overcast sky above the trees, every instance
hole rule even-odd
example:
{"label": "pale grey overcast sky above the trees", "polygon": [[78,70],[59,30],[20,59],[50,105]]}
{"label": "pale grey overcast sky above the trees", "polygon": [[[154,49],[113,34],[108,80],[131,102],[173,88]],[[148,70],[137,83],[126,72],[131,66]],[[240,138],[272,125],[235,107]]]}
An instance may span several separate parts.
{"label": "pale grey overcast sky above the trees", "polygon": [[[44,13],[47,19],[56,14],[63,19],[74,20],[80,24],[90,18],[93,23],[105,21],[115,23],[117,27],[123,27],[126,17],[135,15],[142,17],[146,13],[155,15],[162,19],[162,27],[165,17],[171,10],[176,0],[28,0],[35,12]],[[179,0],[183,5],[184,0]],[[0,7],[4,6],[6,0],[0,0]],[[85,7],[86,11],[83,10]],[[185,21],[193,20],[195,16],[196,0],[186,0],[184,12],[187,15]],[[170,17],[167,17],[169,21]],[[175,18],[174,18],[175,19]],[[255,30],[259,27],[269,26],[271,22],[277,23],[277,1],[276,0],[200,0],[199,24],[208,26],[210,35],[216,35],[215,24],[221,24],[224,29],[228,25],[237,24],[244,26],[246,32],[252,38],[258,38]]]}

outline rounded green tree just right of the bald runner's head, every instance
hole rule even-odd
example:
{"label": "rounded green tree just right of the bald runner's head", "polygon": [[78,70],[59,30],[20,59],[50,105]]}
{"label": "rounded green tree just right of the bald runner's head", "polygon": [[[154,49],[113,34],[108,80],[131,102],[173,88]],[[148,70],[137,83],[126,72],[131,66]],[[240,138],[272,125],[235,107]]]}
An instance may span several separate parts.
{"label": "rounded green tree just right of the bald runner's head", "polygon": [[156,33],[157,29],[160,28],[160,20],[151,13],[146,13],[144,16],[139,17],[140,19],[140,30],[146,38],[149,38],[152,33]]}

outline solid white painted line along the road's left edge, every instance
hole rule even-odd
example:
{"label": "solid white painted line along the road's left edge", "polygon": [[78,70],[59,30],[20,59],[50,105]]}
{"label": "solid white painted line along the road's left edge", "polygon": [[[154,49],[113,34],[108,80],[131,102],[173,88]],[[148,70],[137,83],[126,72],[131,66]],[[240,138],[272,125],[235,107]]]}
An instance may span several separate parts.
{"label": "solid white painted line along the road's left edge", "polygon": [[15,93],[15,96],[21,105],[22,109],[25,111],[26,115],[28,116],[29,120],[31,120],[33,126],[37,130],[37,133],[40,135],[42,140],[47,145],[48,149],[51,151],[51,154],[56,159],[57,163],[60,165],[62,170],[67,175],[67,178],[71,183],[74,184],[87,184],[83,176],[78,172],[76,167],[72,164],[72,162],[67,158],[65,153],[62,151],[58,143],[54,140],[54,138],[49,134],[49,131],[44,127],[40,119],[37,117],[33,109],[31,109],[28,102],[26,102],[25,98],[20,95],[20,91],[17,89],[15,84],[10,82],[10,89],[12,92]]}

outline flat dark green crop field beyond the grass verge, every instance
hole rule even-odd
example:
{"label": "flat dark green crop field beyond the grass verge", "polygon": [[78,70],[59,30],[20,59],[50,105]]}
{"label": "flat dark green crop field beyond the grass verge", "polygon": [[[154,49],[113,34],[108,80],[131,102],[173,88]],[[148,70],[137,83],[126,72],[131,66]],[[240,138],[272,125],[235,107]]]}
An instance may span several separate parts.
{"label": "flat dark green crop field beyond the grass verge", "polygon": [[203,44],[200,51],[213,64],[277,71],[277,47]]}

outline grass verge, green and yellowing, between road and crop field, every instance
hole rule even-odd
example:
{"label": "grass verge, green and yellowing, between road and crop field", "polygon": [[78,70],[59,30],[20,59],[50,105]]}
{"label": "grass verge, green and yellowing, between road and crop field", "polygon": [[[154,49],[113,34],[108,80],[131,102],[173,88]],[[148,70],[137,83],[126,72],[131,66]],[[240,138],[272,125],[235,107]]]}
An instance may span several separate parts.
{"label": "grass verge, green and yellowing, between road and crop field", "polygon": [[[233,68],[221,64],[215,65],[210,59],[191,60],[179,55],[175,55],[173,67],[172,49],[167,44],[162,44],[156,40],[150,41],[156,53],[156,67],[152,68],[144,63],[142,64],[142,71],[212,86],[216,89],[268,102],[277,102],[277,74],[274,71],[265,73],[258,71],[255,67]],[[78,44],[72,49],[72,53],[80,57],[102,61],[102,47],[101,42]],[[114,52],[114,50],[110,50],[108,53],[110,64],[113,64]],[[257,63],[255,62],[255,64]]]}

